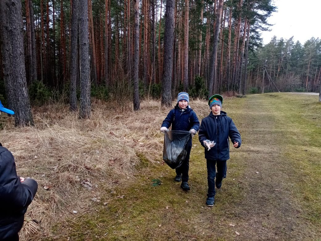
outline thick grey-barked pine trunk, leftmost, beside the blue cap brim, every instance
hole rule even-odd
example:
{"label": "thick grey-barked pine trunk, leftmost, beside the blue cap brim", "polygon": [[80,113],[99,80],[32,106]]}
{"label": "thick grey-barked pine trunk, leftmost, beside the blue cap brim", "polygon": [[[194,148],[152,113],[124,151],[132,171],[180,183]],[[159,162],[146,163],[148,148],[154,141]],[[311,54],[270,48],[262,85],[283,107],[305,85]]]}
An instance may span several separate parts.
{"label": "thick grey-barked pine trunk, leftmost, beside the blue cap brim", "polygon": [[20,0],[0,1],[0,33],[4,83],[9,108],[15,112],[15,125],[33,125],[24,62]]}

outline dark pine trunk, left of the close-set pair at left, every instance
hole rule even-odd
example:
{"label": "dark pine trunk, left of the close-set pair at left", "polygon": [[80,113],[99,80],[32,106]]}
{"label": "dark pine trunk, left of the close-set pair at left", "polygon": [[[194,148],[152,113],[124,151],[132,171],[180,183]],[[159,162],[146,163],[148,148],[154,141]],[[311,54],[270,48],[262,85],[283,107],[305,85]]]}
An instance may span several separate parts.
{"label": "dark pine trunk, left of the close-set pair at left", "polygon": [[77,110],[78,79],[78,0],[72,2],[71,43],[70,43],[70,111]]}

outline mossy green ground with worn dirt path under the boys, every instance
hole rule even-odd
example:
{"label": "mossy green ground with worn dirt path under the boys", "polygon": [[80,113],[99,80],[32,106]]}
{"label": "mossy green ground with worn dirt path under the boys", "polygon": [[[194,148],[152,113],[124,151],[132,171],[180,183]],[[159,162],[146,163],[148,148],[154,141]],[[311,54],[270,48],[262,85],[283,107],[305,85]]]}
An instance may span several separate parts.
{"label": "mossy green ground with worn dirt path under the boys", "polygon": [[[205,102],[191,105],[200,120],[209,113]],[[79,197],[83,204],[74,204],[77,213],[57,210],[50,216],[47,233],[23,233],[25,240],[321,240],[321,103],[317,97],[255,94],[225,99],[223,110],[238,127],[242,146],[231,149],[227,177],[213,208],[205,205],[206,162],[197,136],[190,157],[189,192],[174,182],[175,172],[161,161],[161,144],[154,142],[149,149],[158,154],[152,165],[142,151],[137,171],[112,176],[113,185],[102,182],[98,194],[88,191],[92,201]],[[156,130],[167,111],[154,114]],[[154,138],[161,141],[162,136]],[[40,174],[39,179],[45,175]],[[160,185],[153,186],[154,179]],[[41,196],[47,191],[39,188],[36,203],[48,199]],[[64,207],[73,210],[70,206]],[[33,218],[30,211],[29,217]]]}

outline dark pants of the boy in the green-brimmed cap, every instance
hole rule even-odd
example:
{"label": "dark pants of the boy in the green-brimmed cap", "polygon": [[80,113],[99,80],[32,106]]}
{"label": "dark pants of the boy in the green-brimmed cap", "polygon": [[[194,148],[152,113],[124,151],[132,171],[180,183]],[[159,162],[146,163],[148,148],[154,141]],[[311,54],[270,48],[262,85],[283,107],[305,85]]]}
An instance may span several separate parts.
{"label": "dark pants of the boy in the green-brimmed cap", "polygon": [[[217,166],[217,174],[215,170],[215,164]],[[226,177],[226,160],[208,160],[206,159],[207,166],[207,183],[208,183],[208,197],[215,196],[215,176],[216,182],[221,183],[223,178]]]}

